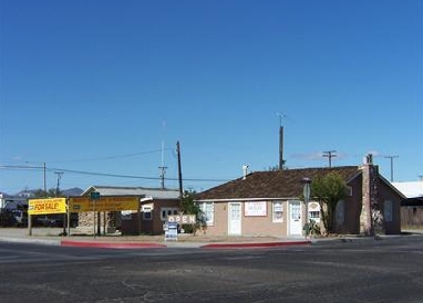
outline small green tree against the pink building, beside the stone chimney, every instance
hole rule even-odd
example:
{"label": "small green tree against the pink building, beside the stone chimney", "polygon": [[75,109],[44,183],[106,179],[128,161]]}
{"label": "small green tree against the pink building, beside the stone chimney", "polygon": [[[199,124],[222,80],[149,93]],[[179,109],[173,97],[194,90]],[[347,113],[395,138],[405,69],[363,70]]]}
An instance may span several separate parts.
{"label": "small green tree against the pink building, beside the stone chimney", "polygon": [[319,176],[311,181],[311,197],[320,205],[321,218],[328,233],[333,232],[337,203],[347,194],[347,184],[337,173]]}

